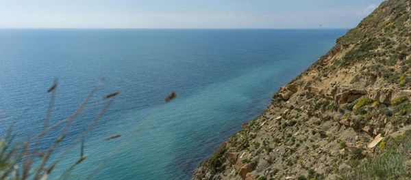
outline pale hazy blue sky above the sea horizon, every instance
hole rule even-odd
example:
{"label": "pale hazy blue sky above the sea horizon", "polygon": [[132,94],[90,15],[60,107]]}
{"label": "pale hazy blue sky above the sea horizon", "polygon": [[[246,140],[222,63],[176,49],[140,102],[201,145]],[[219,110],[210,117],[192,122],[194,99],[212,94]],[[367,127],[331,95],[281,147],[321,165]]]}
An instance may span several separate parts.
{"label": "pale hazy blue sky above the sea horizon", "polygon": [[351,28],[382,0],[0,0],[0,27]]}

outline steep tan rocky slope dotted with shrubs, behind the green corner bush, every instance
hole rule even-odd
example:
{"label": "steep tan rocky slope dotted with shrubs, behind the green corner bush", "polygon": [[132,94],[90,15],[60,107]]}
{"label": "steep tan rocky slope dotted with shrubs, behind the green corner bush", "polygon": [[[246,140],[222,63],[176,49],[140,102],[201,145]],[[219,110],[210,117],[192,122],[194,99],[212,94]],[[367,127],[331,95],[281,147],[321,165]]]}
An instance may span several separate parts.
{"label": "steep tan rocky slope dotted with shrubs, behind the green corner bush", "polygon": [[411,128],[410,4],[379,5],[192,179],[338,179],[353,160],[381,153],[384,140]]}

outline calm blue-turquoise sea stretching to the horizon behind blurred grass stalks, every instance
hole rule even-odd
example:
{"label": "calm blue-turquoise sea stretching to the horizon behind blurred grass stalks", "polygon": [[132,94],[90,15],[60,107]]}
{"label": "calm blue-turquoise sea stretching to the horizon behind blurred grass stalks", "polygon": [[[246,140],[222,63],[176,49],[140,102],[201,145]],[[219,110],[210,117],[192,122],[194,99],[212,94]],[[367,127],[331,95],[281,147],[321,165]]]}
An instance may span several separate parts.
{"label": "calm blue-turquoise sea stretching to the horizon behind blurred grass stalks", "polygon": [[[0,30],[1,132],[14,121],[17,140],[42,127],[53,79],[58,89],[51,123],[71,115],[101,78],[103,86],[75,119],[58,153],[120,91],[86,137],[84,179],[151,113],[94,179],[189,179],[221,142],[269,105],[271,95],[303,72],[345,30]],[[171,91],[179,95],[160,106]],[[25,109],[28,108],[27,111]],[[21,119],[16,119],[22,115]],[[50,132],[41,149],[53,143]],[[114,134],[121,138],[103,141]],[[58,153],[56,155],[58,155]],[[56,168],[77,160],[73,149]]]}

